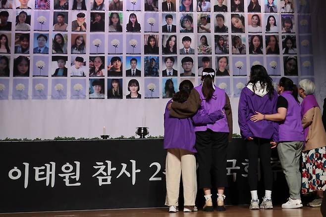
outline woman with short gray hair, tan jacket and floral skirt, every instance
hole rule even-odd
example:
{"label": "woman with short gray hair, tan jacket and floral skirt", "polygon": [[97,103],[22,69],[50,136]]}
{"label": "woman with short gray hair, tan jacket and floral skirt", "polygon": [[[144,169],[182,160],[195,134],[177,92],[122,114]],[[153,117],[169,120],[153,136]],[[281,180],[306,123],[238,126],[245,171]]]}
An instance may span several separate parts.
{"label": "woman with short gray hair, tan jacket and floral skirt", "polygon": [[326,175],[323,162],[326,161],[326,132],[323,127],[322,112],[314,96],[315,84],[304,79],[299,82],[302,127],[304,129],[305,146],[302,151],[302,185],[301,193],[308,194],[316,191],[316,198],[308,203],[311,207],[320,207],[325,189]]}

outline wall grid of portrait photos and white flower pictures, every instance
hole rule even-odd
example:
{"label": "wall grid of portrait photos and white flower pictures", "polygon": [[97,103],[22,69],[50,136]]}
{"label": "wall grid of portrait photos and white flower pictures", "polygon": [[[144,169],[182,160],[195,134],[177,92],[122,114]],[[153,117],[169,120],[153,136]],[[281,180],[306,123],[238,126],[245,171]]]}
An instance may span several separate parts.
{"label": "wall grid of portrait photos and white flower pictures", "polygon": [[0,0],[0,99],[238,97],[252,65],[313,79],[309,0]]}

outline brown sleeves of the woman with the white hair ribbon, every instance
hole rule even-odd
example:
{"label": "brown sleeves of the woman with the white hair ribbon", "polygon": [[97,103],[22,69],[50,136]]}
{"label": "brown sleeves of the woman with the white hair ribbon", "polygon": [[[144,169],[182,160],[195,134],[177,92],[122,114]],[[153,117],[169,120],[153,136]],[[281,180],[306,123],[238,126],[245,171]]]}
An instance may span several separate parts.
{"label": "brown sleeves of the woman with the white hair ribbon", "polygon": [[[228,141],[232,140],[232,110],[230,99],[228,95],[225,93],[225,105],[224,111],[226,115],[227,125],[229,129]],[[178,103],[173,102],[171,105],[170,115],[175,118],[189,118],[196,114],[197,110],[201,105],[200,95],[196,89],[192,89],[190,95],[186,102]]]}

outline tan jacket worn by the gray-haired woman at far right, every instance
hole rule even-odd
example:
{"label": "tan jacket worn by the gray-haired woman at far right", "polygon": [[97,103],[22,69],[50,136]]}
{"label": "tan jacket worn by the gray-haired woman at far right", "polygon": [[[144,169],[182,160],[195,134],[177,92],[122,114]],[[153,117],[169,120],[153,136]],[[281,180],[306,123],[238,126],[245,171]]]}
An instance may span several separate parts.
{"label": "tan jacket worn by the gray-haired woman at far right", "polygon": [[302,117],[303,129],[309,128],[306,144],[303,151],[326,146],[326,132],[322,121],[322,112],[319,107],[309,109]]}

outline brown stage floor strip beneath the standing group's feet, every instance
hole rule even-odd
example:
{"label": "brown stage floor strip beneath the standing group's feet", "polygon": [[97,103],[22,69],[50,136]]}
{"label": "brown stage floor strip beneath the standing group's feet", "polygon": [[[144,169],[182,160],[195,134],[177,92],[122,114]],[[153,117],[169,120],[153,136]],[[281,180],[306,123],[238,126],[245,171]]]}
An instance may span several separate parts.
{"label": "brown stage floor strip beneath the standing group's feet", "polygon": [[167,208],[0,214],[0,217],[322,217],[320,208],[249,210],[248,206],[227,206],[226,212],[172,213]]}

